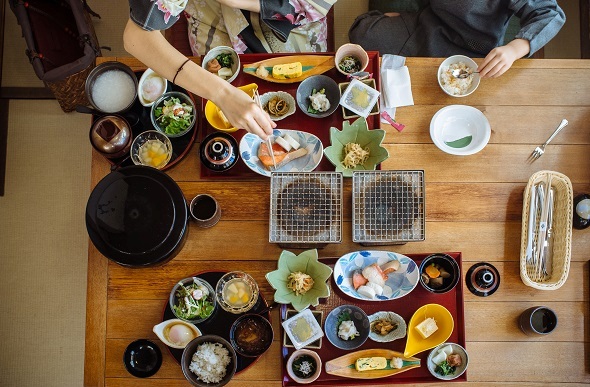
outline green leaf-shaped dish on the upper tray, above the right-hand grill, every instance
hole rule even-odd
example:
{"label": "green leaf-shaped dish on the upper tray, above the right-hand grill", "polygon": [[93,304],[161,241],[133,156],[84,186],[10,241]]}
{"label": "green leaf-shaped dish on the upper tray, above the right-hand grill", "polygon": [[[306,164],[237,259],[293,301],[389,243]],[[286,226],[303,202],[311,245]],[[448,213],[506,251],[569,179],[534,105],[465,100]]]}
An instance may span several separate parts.
{"label": "green leaf-shaped dish on the upper tray, above the right-hand grill", "polygon": [[[358,118],[352,124],[348,121],[342,123],[342,130],[334,127],[330,128],[330,146],[324,149],[324,154],[336,167],[336,172],[342,172],[346,177],[352,176],[352,171],[372,171],[377,165],[387,160],[389,152],[381,146],[385,138],[383,129],[369,130],[367,120]],[[368,159],[353,169],[345,168],[342,161],[344,160],[344,147],[349,142],[359,144],[363,149],[369,148]]]}

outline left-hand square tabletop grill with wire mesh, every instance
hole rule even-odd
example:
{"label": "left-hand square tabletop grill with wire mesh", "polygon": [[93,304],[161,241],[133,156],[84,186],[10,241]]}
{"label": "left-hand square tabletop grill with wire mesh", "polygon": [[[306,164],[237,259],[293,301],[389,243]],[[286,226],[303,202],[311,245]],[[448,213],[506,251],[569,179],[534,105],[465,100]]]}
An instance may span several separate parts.
{"label": "left-hand square tabletop grill with wire mesh", "polygon": [[341,173],[276,172],[270,190],[270,242],[342,241]]}

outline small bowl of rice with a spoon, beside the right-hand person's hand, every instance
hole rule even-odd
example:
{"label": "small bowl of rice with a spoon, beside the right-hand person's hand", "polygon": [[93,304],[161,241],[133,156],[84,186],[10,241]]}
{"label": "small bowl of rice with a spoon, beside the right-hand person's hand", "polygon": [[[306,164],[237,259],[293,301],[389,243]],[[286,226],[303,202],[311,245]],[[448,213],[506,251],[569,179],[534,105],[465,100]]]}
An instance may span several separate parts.
{"label": "small bowl of rice with a spoon, beside the right-hand person's hand", "polygon": [[453,70],[477,71],[477,63],[464,55],[453,55],[445,59],[438,67],[438,84],[451,97],[466,97],[479,86],[479,73],[467,78],[455,78]]}

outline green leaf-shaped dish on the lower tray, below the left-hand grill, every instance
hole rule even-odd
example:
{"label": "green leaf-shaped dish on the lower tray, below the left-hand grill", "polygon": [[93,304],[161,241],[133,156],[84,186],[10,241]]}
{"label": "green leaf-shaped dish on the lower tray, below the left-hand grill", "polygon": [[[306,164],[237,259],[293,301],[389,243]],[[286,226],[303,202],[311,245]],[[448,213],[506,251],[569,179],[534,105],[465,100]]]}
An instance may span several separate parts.
{"label": "green leaf-shaped dish on the lower tray, below the left-hand grill", "polygon": [[[313,287],[305,294],[297,295],[287,287],[287,277],[294,272],[302,272],[313,278]],[[326,281],[332,275],[332,269],[318,261],[317,250],[307,250],[299,255],[283,250],[279,257],[278,269],[266,274],[270,286],[275,289],[274,299],[280,304],[291,304],[297,311],[317,306],[320,298],[330,296]]]}

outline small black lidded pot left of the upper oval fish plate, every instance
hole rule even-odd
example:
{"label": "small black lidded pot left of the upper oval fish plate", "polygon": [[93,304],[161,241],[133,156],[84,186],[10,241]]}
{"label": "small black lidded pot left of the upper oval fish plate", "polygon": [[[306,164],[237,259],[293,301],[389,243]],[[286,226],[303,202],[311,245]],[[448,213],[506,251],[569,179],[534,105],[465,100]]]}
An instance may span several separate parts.
{"label": "small black lidded pot left of the upper oval fish plate", "polygon": [[238,142],[231,134],[211,133],[203,139],[199,156],[208,169],[215,172],[227,171],[238,162]]}

